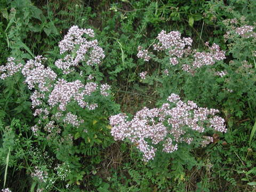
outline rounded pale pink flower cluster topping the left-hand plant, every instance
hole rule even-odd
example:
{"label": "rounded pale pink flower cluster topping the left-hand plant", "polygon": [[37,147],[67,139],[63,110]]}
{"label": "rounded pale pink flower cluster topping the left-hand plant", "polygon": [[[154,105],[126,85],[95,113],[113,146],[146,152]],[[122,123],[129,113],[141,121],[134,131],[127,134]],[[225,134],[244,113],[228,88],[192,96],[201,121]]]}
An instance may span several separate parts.
{"label": "rounded pale pink flower cluster topping the left-hand plant", "polygon": [[[63,73],[70,73],[72,70],[70,67],[78,66],[82,61],[86,61],[87,65],[93,66],[99,65],[101,60],[105,58],[102,48],[98,46],[98,41],[96,39],[89,41],[83,37],[84,35],[94,37],[94,31],[73,26],[59,43],[60,54],[65,54],[65,57],[57,60],[55,66],[62,69]],[[86,55],[89,56],[88,59]]]}

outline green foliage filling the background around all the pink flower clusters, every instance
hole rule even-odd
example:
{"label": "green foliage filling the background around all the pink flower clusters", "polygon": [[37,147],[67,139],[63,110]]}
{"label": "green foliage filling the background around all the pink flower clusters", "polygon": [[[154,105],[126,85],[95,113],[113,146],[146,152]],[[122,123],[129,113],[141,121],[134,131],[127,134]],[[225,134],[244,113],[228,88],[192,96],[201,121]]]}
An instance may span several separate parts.
{"label": "green foliage filling the background around all the pink flower clusters", "polygon": [[[255,38],[237,35],[234,27],[255,26],[256,1],[3,0],[0,7],[1,65],[7,57],[24,64],[34,55],[47,54],[45,66],[59,77],[69,82],[79,78],[85,83],[78,73],[63,75],[54,62],[60,58],[58,42],[68,28],[92,27],[106,58],[96,70],[86,66],[79,70],[117,90],[108,99],[94,94],[93,100],[101,107],[93,112],[71,103],[68,110],[85,122],[78,129],[61,125],[61,134],[49,140],[44,130],[36,137],[30,129],[39,119],[33,116],[31,91],[22,75],[1,79],[0,190],[254,190]],[[235,25],[227,22],[234,18],[238,21]],[[138,45],[154,44],[161,30],[179,30],[182,36],[193,38],[193,49],[201,51],[205,50],[205,41],[217,43],[226,51],[227,59],[198,69],[194,75],[179,65],[170,66],[169,58],[161,52],[157,53],[159,59],[147,63],[138,59]],[[227,31],[230,36],[224,38]],[[162,73],[164,69],[169,69],[168,76]],[[139,73],[146,70],[148,77],[141,80]],[[227,75],[219,77],[217,71],[227,71]],[[161,105],[170,93],[178,93],[201,107],[219,109],[228,132],[213,134],[214,142],[206,148],[182,146],[179,153],[158,153],[154,161],[141,162],[136,146],[115,142],[110,135],[108,117],[119,113],[114,100],[126,105],[131,102],[131,109],[123,112],[133,114],[153,100]],[[142,101],[135,95],[140,95]],[[73,141],[67,139],[69,136]],[[46,182],[31,175],[36,167],[48,173]]]}

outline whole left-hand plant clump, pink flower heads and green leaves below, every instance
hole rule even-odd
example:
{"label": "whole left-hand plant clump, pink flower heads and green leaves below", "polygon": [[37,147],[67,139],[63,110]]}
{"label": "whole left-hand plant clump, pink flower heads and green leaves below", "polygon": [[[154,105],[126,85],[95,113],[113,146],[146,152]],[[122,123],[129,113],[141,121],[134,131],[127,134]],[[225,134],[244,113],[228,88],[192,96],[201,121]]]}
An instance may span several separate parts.
{"label": "whole left-hand plant clump, pink flower heads and green leaves below", "polygon": [[[52,189],[58,179],[82,180],[88,166],[82,157],[97,156],[101,147],[111,143],[111,139],[105,138],[108,128],[104,119],[118,107],[111,101],[110,86],[100,84],[98,65],[105,55],[93,37],[92,29],[73,26],[59,43],[60,59],[52,67],[41,55],[25,65],[9,58],[1,66],[4,80],[21,71],[23,83],[31,92],[31,110],[36,122],[30,128],[33,132],[30,139],[36,140],[37,145],[42,143],[54,157],[49,164],[35,166],[31,162],[30,166],[35,166],[31,177],[38,181],[39,191]],[[92,152],[93,146],[101,147]],[[99,163],[99,156],[96,159]],[[62,169],[54,165],[56,161],[68,169],[65,177],[59,171],[56,173],[55,170]],[[50,170],[51,167],[56,169]]]}

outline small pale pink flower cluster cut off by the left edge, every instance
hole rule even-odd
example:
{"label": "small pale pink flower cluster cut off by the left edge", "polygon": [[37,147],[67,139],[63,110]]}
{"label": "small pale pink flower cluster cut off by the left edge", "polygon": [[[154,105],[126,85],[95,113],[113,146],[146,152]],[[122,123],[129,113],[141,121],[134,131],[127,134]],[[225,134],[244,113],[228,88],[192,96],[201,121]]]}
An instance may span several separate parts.
{"label": "small pale pink flower cluster cut off by the left edge", "polygon": [[7,63],[5,66],[0,66],[0,78],[5,79],[6,77],[13,76],[20,69],[22,69],[23,65],[21,63],[15,63],[15,59],[10,57],[7,59]]}

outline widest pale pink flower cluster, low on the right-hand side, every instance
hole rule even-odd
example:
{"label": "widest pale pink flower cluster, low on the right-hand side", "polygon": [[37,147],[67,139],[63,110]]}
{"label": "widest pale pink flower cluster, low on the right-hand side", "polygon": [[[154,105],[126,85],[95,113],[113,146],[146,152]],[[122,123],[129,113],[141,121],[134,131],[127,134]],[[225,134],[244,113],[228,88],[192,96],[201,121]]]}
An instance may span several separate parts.
{"label": "widest pale pink flower cluster, low on the right-hand side", "polygon": [[224,119],[215,115],[217,109],[198,107],[193,101],[185,103],[177,94],[171,94],[167,101],[160,108],[143,108],[131,121],[124,114],[111,116],[111,135],[115,140],[129,139],[143,154],[143,161],[149,161],[161,141],[163,151],[172,153],[179,143],[192,143],[193,132],[227,131]]}

